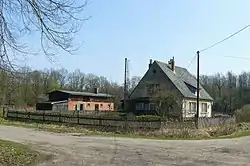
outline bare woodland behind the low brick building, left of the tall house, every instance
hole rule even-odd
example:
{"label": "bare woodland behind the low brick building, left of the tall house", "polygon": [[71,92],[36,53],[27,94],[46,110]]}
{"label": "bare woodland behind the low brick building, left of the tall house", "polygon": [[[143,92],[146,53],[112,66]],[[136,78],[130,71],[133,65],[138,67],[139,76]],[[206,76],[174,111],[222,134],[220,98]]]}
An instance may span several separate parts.
{"label": "bare woodland behind the low brick building, left of the tall house", "polygon": [[[131,91],[139,80],[140,77],[132,77],[128,90]],[[46,93],[53,89],[93,92],[96,87],[99,92],[115,95],[116,104],[123,97],[123,85],[78,69],[74,72],[66,69],[38,71],[24,67],[11,73],[0,70],[0,104],[16,108],[33,107],[37,102],[48,100]]]}

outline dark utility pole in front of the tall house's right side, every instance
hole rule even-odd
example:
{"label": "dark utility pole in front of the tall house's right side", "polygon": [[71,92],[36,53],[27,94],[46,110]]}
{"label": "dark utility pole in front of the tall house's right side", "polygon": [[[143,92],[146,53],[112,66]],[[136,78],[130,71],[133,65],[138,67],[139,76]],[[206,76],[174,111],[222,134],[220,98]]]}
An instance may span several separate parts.
{"label": "dark utility pole in front of the tall house's right side", "polygon": [[200,105],[200,51],[197,51],[197,129],[198,129],[198,120],[200,115],[199,110]]}

